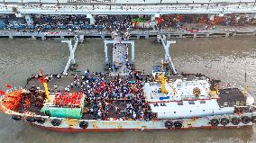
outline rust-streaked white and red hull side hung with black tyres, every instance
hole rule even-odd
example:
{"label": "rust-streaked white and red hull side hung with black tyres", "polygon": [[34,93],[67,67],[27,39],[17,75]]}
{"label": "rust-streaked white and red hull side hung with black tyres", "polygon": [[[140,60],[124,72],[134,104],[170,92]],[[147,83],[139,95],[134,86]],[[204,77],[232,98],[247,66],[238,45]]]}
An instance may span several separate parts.
{"label": "rust-streaked white and red hull side hung with black tyres", "polygon": [[[250,121],[234,122],[233,119],[243,119]],[[75,120],[75,119],[58,119],[60,123],[54,125],[54,119],[47,119],[44,123],[38,121],[30,122],[31,124],[46,130],[55,130],[62,132],[84,132],[84,131],[125,131],[125,130],[195,130],[195,129],[231,129],[251,127],[255,123],[254,112],[236,114],[225,114],[216,116],[205,116],[190,119],[160,120],[160,121],[101,121],[101,120]],[[25,118],[23,118],[25,120]],[[228,122],[224,123],[224,119]],[[254,119],[254,120],[252,120]],[[217,121],[217,123],[213,123]],[[81,122],[86,122],[86,127],[81,126]],[[171,122],[168,126],[168,122]],[[179,123],[179,124],[178,124]]]}

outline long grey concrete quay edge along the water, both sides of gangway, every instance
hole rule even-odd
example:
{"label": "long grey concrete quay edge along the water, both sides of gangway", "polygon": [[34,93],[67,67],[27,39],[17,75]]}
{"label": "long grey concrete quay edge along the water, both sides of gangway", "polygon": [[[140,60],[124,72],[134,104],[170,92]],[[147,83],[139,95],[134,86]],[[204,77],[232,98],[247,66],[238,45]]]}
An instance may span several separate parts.
{"label": "long grey concrete quay edge along the water, both sides of gangway", "polygon": [[[255,35],[255,28],[246,29],[223,29],[223,30],[205,30],[205,31],[131,31],[131,39],[149,39],[150,37],[157,37],[157,35],[168,35],[171,39],[181,38],[210,38],[210,37],[230,37],[230,36],[248,36]],[[0,31],[0,38],[32,38],[46,40],[47,38],[72,38],[75,35],[84,35],[86,38],[101,38],[111,37],[111,31],[61,31],[61,32],[29,32],[29,31]]]}

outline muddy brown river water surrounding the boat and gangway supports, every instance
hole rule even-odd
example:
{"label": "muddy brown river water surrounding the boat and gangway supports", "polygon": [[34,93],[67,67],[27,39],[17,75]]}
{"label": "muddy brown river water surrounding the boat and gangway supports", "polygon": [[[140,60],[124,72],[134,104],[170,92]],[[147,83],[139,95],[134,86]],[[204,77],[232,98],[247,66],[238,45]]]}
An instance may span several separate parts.
{"label": "muddy brown river water surrounding the boat and gangway supports", "polygon": [[[78,69],[104,69],[103,40],[87,40],[76,51]],[[150,73],[164,51],[155,40],[135,41],[135,67]],[[256,94],[256,37],[184,39],[171,45],[178,72],[204,73],[236,86],[247,85]],[[68,45],[60,40],[0,40],[0,89],[5,84],[23,85],[28,76],[60,73],[69,57]],[[42,130],[0,114],[0,143],[31,142],[256,142],[256,126],[233,130],[154,130],[126,132],[59,133]]]}

